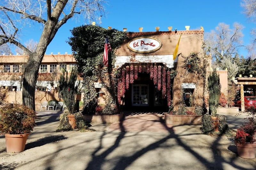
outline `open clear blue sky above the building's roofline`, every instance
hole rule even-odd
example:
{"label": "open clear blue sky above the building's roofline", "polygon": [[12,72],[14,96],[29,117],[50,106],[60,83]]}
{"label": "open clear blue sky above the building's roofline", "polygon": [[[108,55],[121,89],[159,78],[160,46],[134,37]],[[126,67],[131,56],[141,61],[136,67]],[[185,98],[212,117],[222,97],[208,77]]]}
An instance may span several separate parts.
{"label": "open clear blue sky above the building's roofline", "polygon": [[[190,26],[190,30],[200,29],[200,26],[203,26],[204,32],[210,32],[221,22],[230,25],[231,28],[234,22],[238,22],[245,27],[243,40],[244,45],[247,45],[250,43],[250,30],[256,25],[250,23],[242,13],[240,3],[240,0],[109,0],[106,6],[106,17],[101,19],[101,23],[96,21],[96,24],[106,29],[111,26],[121,31],[127,28],[127,31],[131,32],[138,32],[139,27],[143,27],[143,32],[155,31],[156,26],[160,27],[159,31],[168,31],[168,26],[172,26],[172,30],[175,28],[185,30],[186,25]],[[90,23],[82,19],[80,22],[69,20],[57,32],[46,54],[72,53],[71,47],[66,43],[68,37],[71,36],[69,30],[84,24]],[[40,35],[36,32],[38,30],[27,38],[38,41]],[[240,53],[245,55],[246,51],[241,49]]]}

